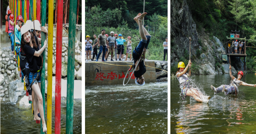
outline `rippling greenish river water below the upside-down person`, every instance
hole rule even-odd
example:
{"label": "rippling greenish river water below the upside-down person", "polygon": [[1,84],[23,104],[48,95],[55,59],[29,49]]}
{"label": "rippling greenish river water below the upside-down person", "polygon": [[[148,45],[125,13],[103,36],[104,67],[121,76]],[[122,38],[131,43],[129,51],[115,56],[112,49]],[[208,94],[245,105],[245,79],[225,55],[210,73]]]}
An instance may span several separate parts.
{"label": "rippling greenish river water below the upside-down person", "polygon": [[85,87],[85,133],[167,133],[167,82]]}

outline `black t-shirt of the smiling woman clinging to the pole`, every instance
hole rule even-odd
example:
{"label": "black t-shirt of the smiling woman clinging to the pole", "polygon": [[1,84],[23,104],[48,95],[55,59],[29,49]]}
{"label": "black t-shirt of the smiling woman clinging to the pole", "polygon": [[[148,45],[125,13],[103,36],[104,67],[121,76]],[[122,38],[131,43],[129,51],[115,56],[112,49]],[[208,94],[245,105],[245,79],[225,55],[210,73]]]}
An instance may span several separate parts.
{"label": "black t-shirt of the smiling woman clinging to the pole", "polygon": [[40,70],[40,67],[42,66],[42,58],[41,56],[37,57],[34,56],[35,51],[39,51],[39,43],[37,42],[37,37],[35,37],[35,42],[37,45],[37,48],[31,47],[29,44],[24,45],[24,53],[26,55],[27,61],[28,61],[28,67],[30,69],[30,72],[36,72]]}

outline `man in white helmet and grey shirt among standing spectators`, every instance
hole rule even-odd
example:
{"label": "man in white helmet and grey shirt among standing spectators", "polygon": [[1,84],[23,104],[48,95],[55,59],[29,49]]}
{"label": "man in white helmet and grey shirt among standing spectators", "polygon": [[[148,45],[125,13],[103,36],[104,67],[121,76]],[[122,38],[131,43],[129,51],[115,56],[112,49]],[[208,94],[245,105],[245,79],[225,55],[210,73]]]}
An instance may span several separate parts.
{"label": "man in white helmet and grey shirt among standing spectators", "polygon": [[117,46],[117,40],[114,37],[114,32],[113,31],[110,32],[110,35],[111,36],[109,36],[108,39],[107,39],[107,44],[109,44],[109,48],[108,48],[108,54],[106,56],[106,60],[109,57],[109,54],[112,52],[111,53],[111,60],[110,61],[114,61],[113,60],[113,54],[114,54],[115,48]]}

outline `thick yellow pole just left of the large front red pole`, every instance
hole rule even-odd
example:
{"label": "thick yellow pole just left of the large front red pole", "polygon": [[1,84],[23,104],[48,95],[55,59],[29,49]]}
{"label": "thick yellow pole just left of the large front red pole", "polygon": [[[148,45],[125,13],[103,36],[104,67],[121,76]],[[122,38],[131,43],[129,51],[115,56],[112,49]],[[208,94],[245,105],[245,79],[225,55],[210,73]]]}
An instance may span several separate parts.
{"label": "thick yellow pole just left of the large front red pole", "polygon": [[52,48],[53,48],[53,7],[54,0],[49,0],[48,8],[48,60],[47,60],[47,134],[52,133]]}

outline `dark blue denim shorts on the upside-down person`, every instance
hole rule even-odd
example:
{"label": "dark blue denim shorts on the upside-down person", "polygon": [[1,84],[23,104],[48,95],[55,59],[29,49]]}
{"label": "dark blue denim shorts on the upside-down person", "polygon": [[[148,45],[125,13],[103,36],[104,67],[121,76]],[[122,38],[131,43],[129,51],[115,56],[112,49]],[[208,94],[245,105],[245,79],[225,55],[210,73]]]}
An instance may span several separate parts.
{"label": "dark blue denim shorts on the upside-down person", "polygon": [[[146,37],[147,37],[147,41],[141,39],[141,41],[139,42],[138,46],[136,46],[135,49],[133,50],[133,53],[134,53],[135,55],[137,55],[137,56],[133,56],[133,54],[132,54],[132,57],[133,57],[134,60],[139,60],[139,58],[137,58],[137,57],[139,57],[139,56],[143,53],[144,47],[147,49],[147,46],[148,46],[148,44],[149,44],[149,42],[150,42],[151,36],[146,35]],[[136,51],[138,54],[137,54],[135,51]]]}

